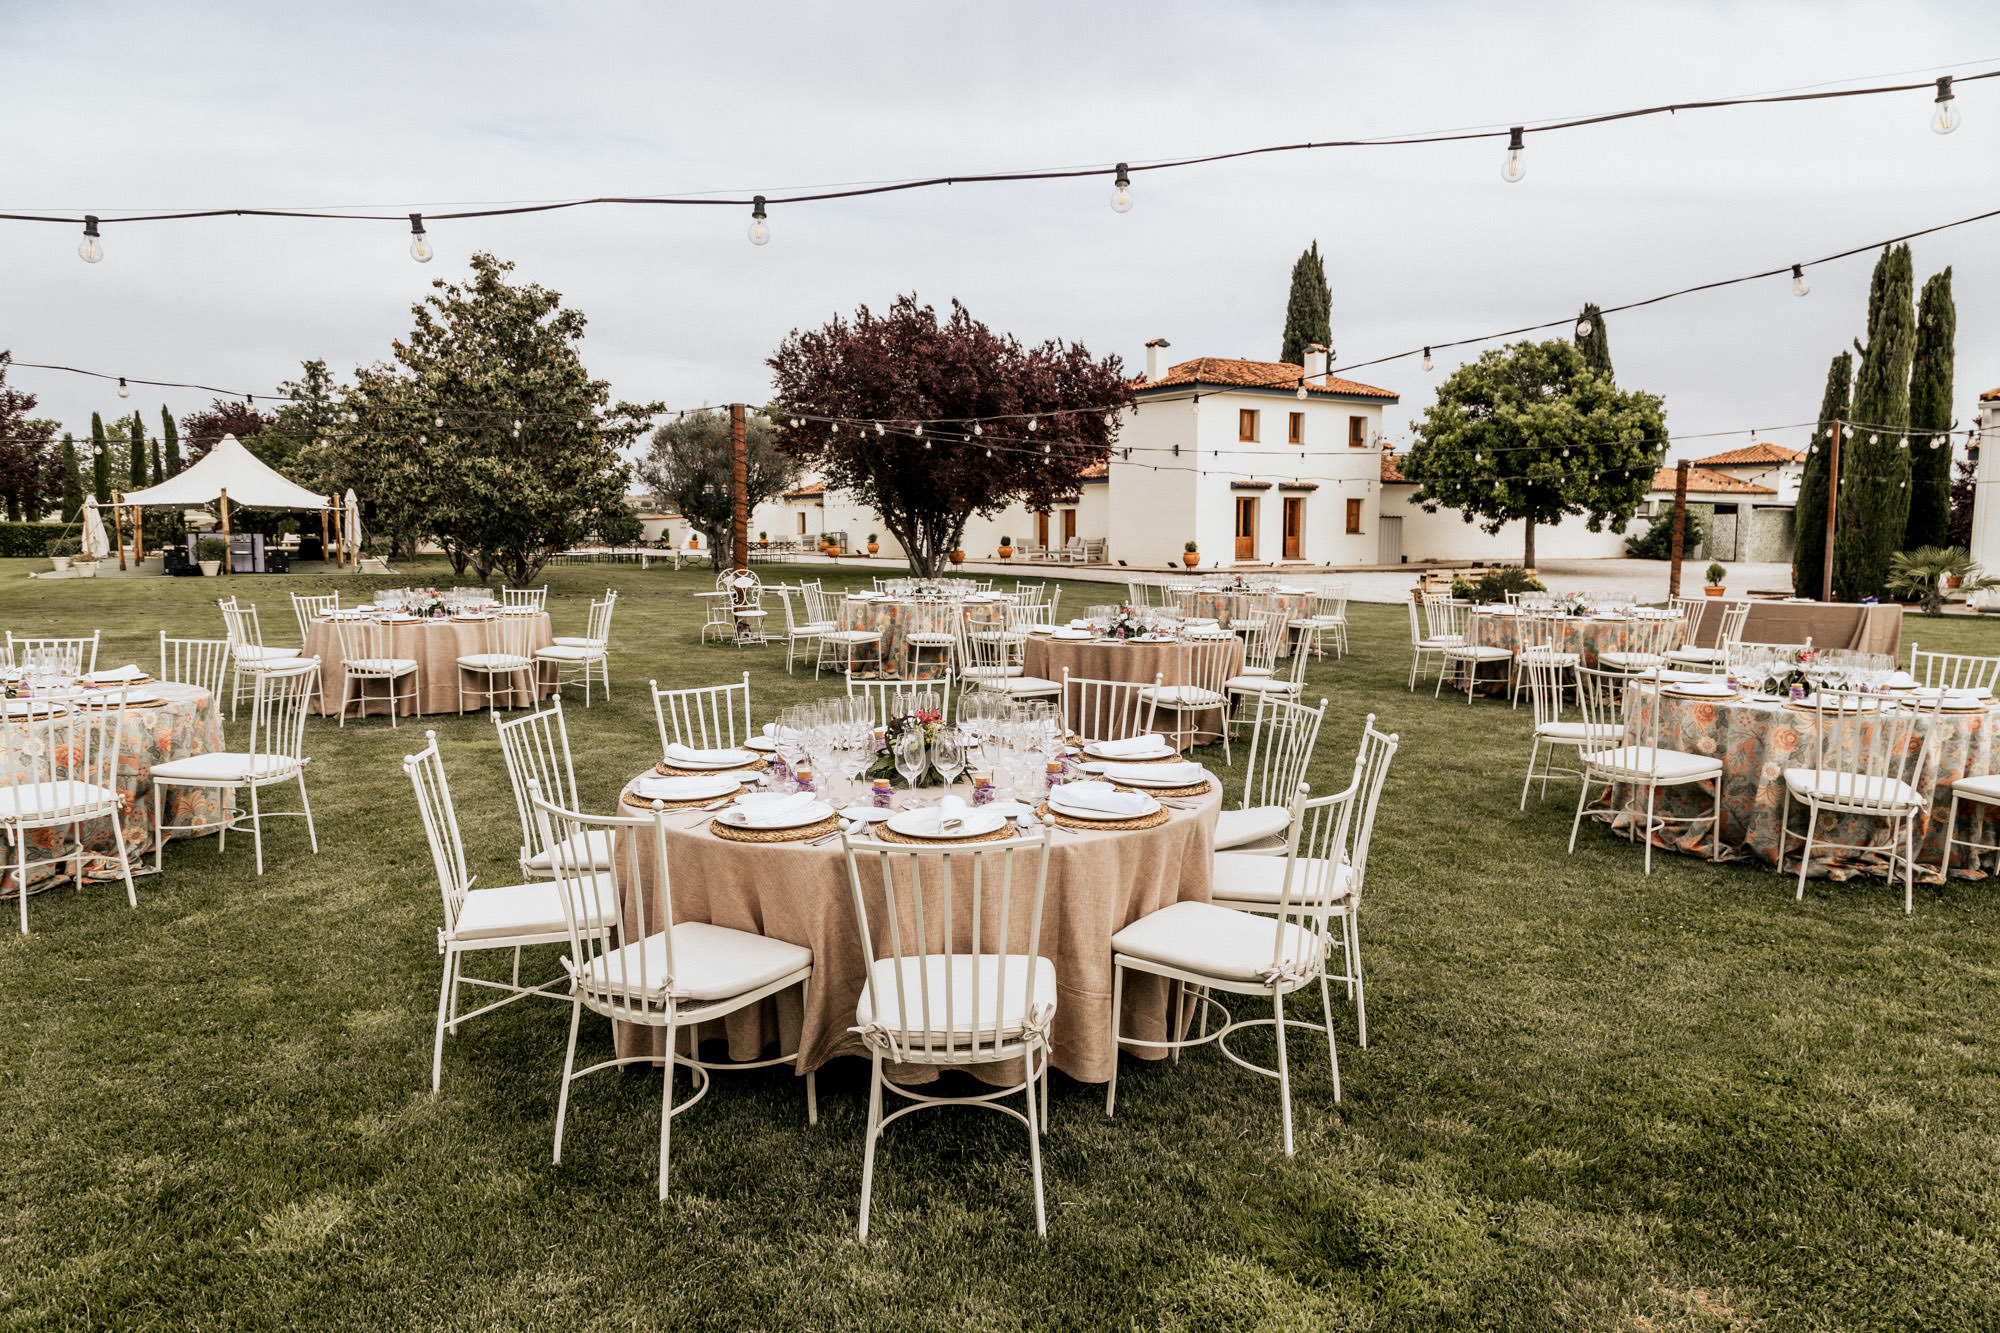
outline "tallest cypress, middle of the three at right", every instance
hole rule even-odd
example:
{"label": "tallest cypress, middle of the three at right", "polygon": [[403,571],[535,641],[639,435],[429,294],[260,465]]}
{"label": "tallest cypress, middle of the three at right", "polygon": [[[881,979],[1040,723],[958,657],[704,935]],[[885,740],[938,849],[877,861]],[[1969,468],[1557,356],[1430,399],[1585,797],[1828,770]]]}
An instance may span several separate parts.
{"label": "tallest cypress, middle of the three at right", "polygon": [[1854,372],[1854,430],[1840,440],[1840,514],[1834,590],[1880,596],[1888,560],[1910,516],[1910,358],[1916,312],[1910,246],[1884,250],[1868,282],[1868,346]]}

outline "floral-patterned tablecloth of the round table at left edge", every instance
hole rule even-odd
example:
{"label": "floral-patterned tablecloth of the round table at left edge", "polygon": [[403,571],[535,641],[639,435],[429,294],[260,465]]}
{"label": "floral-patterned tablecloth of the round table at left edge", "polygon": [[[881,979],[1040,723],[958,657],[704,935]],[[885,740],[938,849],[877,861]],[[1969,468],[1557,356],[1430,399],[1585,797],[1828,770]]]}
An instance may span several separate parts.
{"label": "floral-patterned tablecloth of the round table at left edge", "polygon": [[[160,843],[160,831],[152,823],[152,765],[192,755],[214,755],[222,749],[222,711],[216,699],[194,685],[150,685],[160,695],[156,705],[132,705],[124,719],[124,737],[118,745],[118,791],[128,799],[120,825],[124,827],[126,857],[132,873],[140,871],[140,861],[150,857]],[[102,713],[94,709],[92,713]],[[10,753],[30,739],[26,719],[6,719],[12,733]],[[216,825],[222,819],[218,793],[200,787],[166,789],[166,823],[170,825]],[[190,839],[204,831],[176,831],[170,837]],[[56,839],[68,837],[60,829],[36,829],[30,835],[30,861],[48,855]],[[110,821],[98,819],[84,825],[84,879],[122,879],[118,873],[118,841],[112,837]],[[30,893],[40,893],[50,885],[66,883],[68,873],[60,867],[40,867],[30,871],[34,883]],[[16,891],[12,861],[0,877],[0,887],[12,897]]]}

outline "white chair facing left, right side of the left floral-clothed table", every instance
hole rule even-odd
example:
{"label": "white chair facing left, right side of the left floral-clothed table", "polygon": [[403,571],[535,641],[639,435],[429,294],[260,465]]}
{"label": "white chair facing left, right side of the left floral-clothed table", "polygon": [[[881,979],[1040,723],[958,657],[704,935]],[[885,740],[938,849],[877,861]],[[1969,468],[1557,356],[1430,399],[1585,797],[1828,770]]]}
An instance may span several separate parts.
{"label": "white chair facing left, right side of the left floral-clothed table", "polygon": [[[152,869],[160,869],[166,847],[166,831],[206,831],[216,829],[216,853],[228,847],[230,825],[244,817],[236,809],[236,791],[250,789],[250,841],[256,847],[256,873],[264,873],[264,821],[304,819],[306,839],[312,853],[320,853],[320,835],[312,827],[312,801],[306,799],[306,703],[320,685],[320,658],[302,656],[290,662],[272,662],[254,677],[250,695],[250,745],[242,751],[218,751],[214,755],[190,755],[154,765],[152,775],[152,823],[160,831],[160,841],[152,851]],[[280,783],[298,783],[296,811],[266,811],[258,793]],[[168,825],[166,789],[202,787],[222,793],[222,819],[216,825]]]}

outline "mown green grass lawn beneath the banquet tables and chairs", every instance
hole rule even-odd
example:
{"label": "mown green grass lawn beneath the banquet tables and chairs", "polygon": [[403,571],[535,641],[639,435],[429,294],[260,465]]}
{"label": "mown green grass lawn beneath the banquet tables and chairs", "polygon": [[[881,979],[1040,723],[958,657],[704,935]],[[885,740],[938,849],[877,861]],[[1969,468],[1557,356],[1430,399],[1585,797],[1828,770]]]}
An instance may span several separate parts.
{"label": "mown green grass lawn beneath the banquet tables and chairs", "polygon": [[[0,628],[220,636],[210,600],[396,580],[30,582]],[[448,580],[440,564],[410,570]],[[584,801],[650,757],[646,681],[752,675],[758,721],[814,693],[784,648],[702,646],[700,570],[556,568],[558,632],[620,590],[610,705],[572,703]],[[1066,600],[1088,598],[1072,584]],[[1370,1041],[1342,1007],[1346,1103],[1304,1045],[1298,1157],[1276,1085],[1198,1051],[1056,1077],[1050,1235],[1022,1131],[900,1121],[854,1241],[866,1067],[722,1075],[674,1129],[658,1075],[596,1075],[548,1161],[568,1009],[522,1003],[446,1045],[430,1093],[438,889],[398,759],[434,727],[482,883],[518,823],[492,723],[314,721],[320,855],[280,821],[176,843],[122,891],[46,893],[0,933],[0,1327],[230,1329],[1994,1329],[2000,1327],[2000,905],[1986,885],[1816,881],[1640,853],[1574,787],[1516,813],[1528,709],[1404,691],[1406,618],[1354,606],[1332,791],[1362,715],[1402,735],[1364,911]],[[1978,620],[1912,626],[2000,652]],[[236,739],[238,733],[230,733]],[[1220,765],[1220,753],[1214,757]],[[542,951],[538,971],[552,969]],[[586,1017],[584,1053],[610,1047]]]}

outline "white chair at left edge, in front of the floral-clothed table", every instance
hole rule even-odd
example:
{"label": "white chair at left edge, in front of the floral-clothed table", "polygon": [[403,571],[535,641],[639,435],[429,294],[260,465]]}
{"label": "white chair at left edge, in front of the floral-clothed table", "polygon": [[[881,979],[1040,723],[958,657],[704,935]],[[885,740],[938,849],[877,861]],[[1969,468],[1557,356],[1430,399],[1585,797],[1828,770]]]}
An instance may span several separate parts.
{"label": "white chair at left edge, in front of the floral-clothed table", "polygon": [[[124,691],[104,691],[96,705],[30,703],[24,719],[0,725],[0,831],[12,845],[14,897],[20,901],[20,933],[28,933],[28,871],[70,865],[76,889],[84,887],[84,825],[108,819],[118,841],[118,873],[126,883],[126,903],[138,907],[132,889],[132,861],[124,845],[126,803],[118,791],[118,753],[124,745]],[[34,861],[28,843],[40,831],[52,835],[52,855]],[[76,847],[62,853],[60,831],[68,829]]]}

